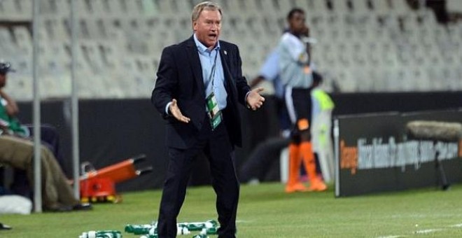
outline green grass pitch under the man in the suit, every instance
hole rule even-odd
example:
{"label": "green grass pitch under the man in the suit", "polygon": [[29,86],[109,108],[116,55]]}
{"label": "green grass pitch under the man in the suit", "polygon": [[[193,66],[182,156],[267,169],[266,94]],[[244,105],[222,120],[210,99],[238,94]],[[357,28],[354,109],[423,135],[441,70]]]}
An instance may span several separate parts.
{"label": "green grass pitch under the man in the suit", "polygon": [[[241,186],[237,237],[462,237],[462,186],[335,198],[283,193],[281,183]],[[120,204],[92,211],[1,215],[0,237],[78,237],[89,230],[120,230],[157,219],[160,190],[124,193]],[[216,220],[211,187],[188,188],[179,222]],[[123,237],[139,237],[123,232]],[[193,237],[193,235],[181,236]],[[215,237],[215,236],[213,236]]]}

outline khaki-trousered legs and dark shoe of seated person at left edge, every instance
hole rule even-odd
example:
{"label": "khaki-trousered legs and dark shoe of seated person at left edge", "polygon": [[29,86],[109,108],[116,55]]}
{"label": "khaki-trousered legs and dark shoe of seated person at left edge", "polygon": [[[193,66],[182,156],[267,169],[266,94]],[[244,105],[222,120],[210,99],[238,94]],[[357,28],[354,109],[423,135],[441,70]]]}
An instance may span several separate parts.
{"label": "khaki-trousered legs and dark shoe of seated person at left edge", "polygon": [[[25,170],[29,184],[34,184],[34,144],[31,141],[1,134],[0,163]],[[80,203],[74,197],[68,179],[46,146],[41,146],[41,181],[42,205],[45,211],[92,209],[91,204]]]}

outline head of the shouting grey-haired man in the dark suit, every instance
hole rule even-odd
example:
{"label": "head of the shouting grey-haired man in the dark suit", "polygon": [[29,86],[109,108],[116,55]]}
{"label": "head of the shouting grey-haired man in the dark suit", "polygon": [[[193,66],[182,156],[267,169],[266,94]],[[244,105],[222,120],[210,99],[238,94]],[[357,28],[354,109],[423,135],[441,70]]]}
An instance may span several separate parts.
{"label": "head of the shouting grey-haired man in the dark suit", "polygon": [[213,49],[218,42],[221,29],[221,13],[218,10],[202,10],[199,18],[193,22],[197,40],[207,48]]}

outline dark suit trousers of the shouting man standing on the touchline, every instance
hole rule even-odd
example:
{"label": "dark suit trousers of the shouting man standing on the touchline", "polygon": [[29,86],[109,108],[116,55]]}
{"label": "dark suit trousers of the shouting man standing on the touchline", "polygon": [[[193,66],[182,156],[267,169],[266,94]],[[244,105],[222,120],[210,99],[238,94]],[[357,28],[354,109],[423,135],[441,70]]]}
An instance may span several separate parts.
{"label": "dark suit trousers of the shouting man standing on the touchline", "polygon": [[218,237],[235,237],[239,181],[236,176],[234,150],[225,122],[212,131],[206,116],[204,126],[192,147],[169,148],[170,160],[158,219],[160,238],[176,237],[176,217],[185,200],[192,163],[202,151],[209,159],[212,186],[216,193],[216,211],[220,223]]}

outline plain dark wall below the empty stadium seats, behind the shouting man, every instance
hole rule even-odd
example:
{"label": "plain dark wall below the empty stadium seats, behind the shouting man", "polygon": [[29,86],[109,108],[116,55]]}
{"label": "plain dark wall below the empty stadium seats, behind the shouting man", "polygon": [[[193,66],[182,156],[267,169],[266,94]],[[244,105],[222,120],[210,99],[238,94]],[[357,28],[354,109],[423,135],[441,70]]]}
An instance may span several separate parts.
{"label": "plain dark wall below the empty stadium seats, behind the shouting man", "polygon": [[[334,115],[384,111],[426,111],[462,106],[462,92],[358,93],[332,94],[336,104]],[[42,102],[42,123],[55,125],[59,130],[68,176],[71,163],[70,100],[55,99]],[[31,102],[20,102],[22,123],[31,123]],[[167,167],[164,121],[149,99],[98,99],[79,102],[80,161],[90,161],[99,169],[144,153],[147,159],[139,167],[152,166],[153,172],[118,184],[119,191],[161,188]],[[237,167],[246,160],[259,141],[278,134],[274,98],[267,97],[265,106],[256,112],[241,108],[244,146],[237,150]],[[275,158],[276,161],[277,158]],[[209,183],[207,161],[197,159],[190,185]],[[272,176],[277,180],[279,163],[274,162]]]}

